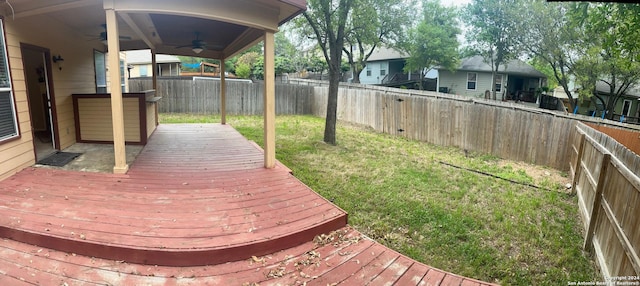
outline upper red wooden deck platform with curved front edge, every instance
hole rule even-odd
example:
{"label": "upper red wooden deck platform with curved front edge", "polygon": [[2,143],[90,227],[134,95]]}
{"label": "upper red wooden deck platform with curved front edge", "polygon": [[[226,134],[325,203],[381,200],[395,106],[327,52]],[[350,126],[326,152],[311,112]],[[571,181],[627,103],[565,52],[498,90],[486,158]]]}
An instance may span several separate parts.
{"label": "upper red wooden deck platform with curved front edge", "polygon": [[[264,255],[347,214],[225,125],[163,125],[126,175],[28,168],[0,182],[0,237],[130,263],[196,266]],[[257,163],[256,163],[257,162]]]}

